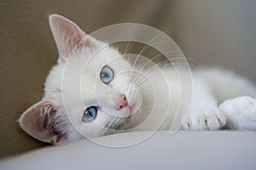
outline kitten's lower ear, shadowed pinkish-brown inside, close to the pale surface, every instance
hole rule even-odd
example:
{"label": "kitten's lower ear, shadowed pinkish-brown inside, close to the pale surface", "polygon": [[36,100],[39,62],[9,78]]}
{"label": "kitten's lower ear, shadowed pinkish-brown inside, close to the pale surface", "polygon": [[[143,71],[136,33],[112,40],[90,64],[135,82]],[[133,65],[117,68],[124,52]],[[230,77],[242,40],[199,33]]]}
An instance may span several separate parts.
{"label": "kitten's lower ear, shadowed pinkish-brown inside, close to the pale surface", "polygon": [[56,108],[51,101],[40,101],[27,109],[19,119],[20,127],[33,138],[43,142],[57,144],[63,142],[64,134],[55,129]]}

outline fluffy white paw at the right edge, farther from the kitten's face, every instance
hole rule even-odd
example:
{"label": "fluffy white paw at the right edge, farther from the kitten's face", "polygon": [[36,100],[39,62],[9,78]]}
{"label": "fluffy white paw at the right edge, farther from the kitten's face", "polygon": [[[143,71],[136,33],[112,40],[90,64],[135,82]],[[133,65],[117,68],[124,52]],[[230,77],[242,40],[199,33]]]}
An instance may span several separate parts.
{"label": "fluffy white paw at the right edge, farther from the kitten's face", "polygon": [[219,109],[223,111],[231,128],[256,130],[256,99],[249,96],[229,99]]}

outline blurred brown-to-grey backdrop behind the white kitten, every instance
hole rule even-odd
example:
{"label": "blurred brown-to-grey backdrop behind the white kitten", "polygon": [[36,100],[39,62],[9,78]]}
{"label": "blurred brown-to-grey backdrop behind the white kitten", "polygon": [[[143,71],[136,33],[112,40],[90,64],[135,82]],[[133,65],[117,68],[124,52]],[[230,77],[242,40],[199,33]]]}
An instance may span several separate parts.
{"label": "blurred brown-to-grey backdrop behind the white kitten", "polygon": [[40,100],[57,59],[49,14],[63,14],[89,33],[121,22],[154,26],[197,65],[229,68],[256,82],[255,7],[254,0],[1,0],[0,156],[45,145],[16,120]]}

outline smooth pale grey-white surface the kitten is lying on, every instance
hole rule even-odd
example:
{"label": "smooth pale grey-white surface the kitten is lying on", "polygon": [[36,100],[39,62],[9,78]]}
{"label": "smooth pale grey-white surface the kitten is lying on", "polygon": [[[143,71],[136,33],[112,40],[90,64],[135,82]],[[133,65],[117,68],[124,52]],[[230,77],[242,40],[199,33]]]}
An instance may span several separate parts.
{"label": "smooth pale grey-white surface the kitten is lying on", "polygon": [[[149,132],[122,133],[98,141],[127,141]],[[145,135],[146,136],[146,135]],[[82,140],[2,160],[0,169],[252,169],[255,132],[157,132],[130,147],[109,148]]]}

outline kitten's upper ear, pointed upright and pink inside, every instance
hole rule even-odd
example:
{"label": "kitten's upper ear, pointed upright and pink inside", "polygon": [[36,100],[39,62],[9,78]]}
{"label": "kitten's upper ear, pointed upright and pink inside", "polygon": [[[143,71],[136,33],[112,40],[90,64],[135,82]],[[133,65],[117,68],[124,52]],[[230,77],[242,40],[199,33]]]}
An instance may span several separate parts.
{"label": "kitten's upper ear, pointed upright and pink inside", "polygon": [[49,26],[59,51],[59,63],[65,62],[76,46],[85,45],[89,48],[96,48],[97,41],[94,37],[90,37],[73,21],[59,14],[49,15]]}

